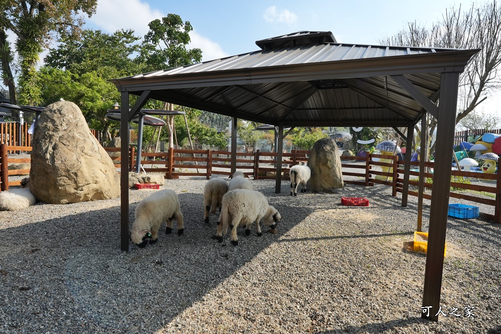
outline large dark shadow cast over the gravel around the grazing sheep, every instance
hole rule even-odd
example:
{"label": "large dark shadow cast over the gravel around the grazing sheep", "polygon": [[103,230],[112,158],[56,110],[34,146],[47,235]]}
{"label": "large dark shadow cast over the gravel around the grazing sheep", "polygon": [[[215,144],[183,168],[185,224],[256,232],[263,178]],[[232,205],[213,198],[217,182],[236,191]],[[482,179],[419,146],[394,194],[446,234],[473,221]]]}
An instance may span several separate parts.
{"label": "large dark shadow cast over the gravel around the grazing sheep", "polygon": [[[184,234],[175,233],[176,222],[173,233],[165,234],[162,223],[156,244],[130,244],[129,252],[120,251],[119,206],[92,211],[90,203],[84,212],[0,230],[0,239],[9,240],[0,245],[4,328],[155,332],[319,209],[271,196],[283,213],[279,234],[258,237],[253,228],[246,236],[242,229],[235,247],[229,233],[223,243],[210,238],[217,216],[204,223],[202,194],[178,195]],[[129,207],[131,226],[136,204]],[[71,204],[65,210],[71,212]]]}

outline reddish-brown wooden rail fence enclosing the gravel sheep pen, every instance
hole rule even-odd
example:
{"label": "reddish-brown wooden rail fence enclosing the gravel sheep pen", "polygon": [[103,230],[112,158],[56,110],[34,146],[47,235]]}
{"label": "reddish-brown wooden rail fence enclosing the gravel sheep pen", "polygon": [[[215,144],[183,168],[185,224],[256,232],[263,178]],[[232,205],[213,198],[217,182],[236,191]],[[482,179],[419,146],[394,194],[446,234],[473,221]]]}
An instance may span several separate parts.
{"label": "reddish-brown wooden rail fence enclosing the gravel sheep pen", "polygon": [[[9,186],[17,186],[21,181],[9,181],[9,176],[20,173],[29,173],[29,170],[9,170],[9,163],[30,162],[30,159],[16,158],[9,156],[8,152],[16,151],[31,151],[31,147],[12,146],[8,144],[0,144],[0,191],[9,189]],[[105,148],[108,153],[115,153],[118,156],[112,156],[115,167],[120,168],[120,164],[116,163],[121,159],[119,156],[120,148]],[[289,180],[289,170],[292,166],[299,163],[307,163],[309,151],[293,150],[291,153],[283,153],[283,175],[282,179]],[[112,154],[112,155],[115,155]],[[129,170],[135,167],[134,147],[130,147]],[[348,163],[351,161],[351,163]],[[244,171],[247,176],[253,176],[255,180],[259,179],[274,179],[276,172],[277,153],[260,152],[255,153],[237,153],[237,169]],[[343,169],[350,168],[360,170],[360,172],[343,171],[344,176],[355,176],[359,180],[345,180],[345,183],[358,184],[363,186],[374,186],[375,183],[383,184],[392,187],[392,195],[396,196],[397,192],[403,192],[403,164],[404,161],[398,161],[396,156],[368,154],[366,157],[341,157],[341,167]],[[169,149],[165,153],[142,153],[141,165],[147,173],[163,173],[164,178],[174,179],[179,176],[203,176],[209,179],[211,175],[229,175],[231,171],[231,153],[227,151],[211,151],[211,150],[177,150]],[[433,162],[426,162],[425,167],[433,168]],[[376,171],[375,166],[389,168],[387,172]],[[411,168],[418,168],[419,162],[411,162]],[[376,176],[381,177],[376,177]],[[419,176],[416,170],[410,171],[410,176]],[[450,192],[450,197],[464,199],[467,201],[482,203],[494,206],[494,215],[480,212],[480,216],[496,223],[501,223],[501,173],[484,174],[469,171],[453,170],[452,176],[462,176],[476,179],[485,179],[496,181],[492,186],[489,185],[474,185],[464,184],[459,182],[451,182],[451,187],[457,189],[485,192],[492,194],[494,199],[475,196],[474,194],[464,194],[459,192]],[[424,173],[424,177],[432,179],[432,173]],[[426,182],[424,187],[432,189],[432,183]],[[409,185],[417,186],[416,180],[409,180]],[[418,196],[417,191],[409,190],[411,196]],[[431,194],[423,194],[426,199],[431,199]]]}

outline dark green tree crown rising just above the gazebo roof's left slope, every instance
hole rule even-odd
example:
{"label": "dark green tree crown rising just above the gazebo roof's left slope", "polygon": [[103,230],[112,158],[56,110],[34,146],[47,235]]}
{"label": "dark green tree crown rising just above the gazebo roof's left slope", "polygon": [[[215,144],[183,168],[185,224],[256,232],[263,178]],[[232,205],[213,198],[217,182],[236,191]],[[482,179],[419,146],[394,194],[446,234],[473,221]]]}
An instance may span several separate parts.
{"label": "dark green tree crown rising just above the gazebo roof's left slope", "polygon": [[201,61],[200,49],[186,49],[186,45],[191,41],[189,32],[193,30],[189,21],[183,23],[179,15],[168,14],[161,20],[151,21],[148,27],[150,31],[144,36],[140,59],[147,64],[150,71]]}

